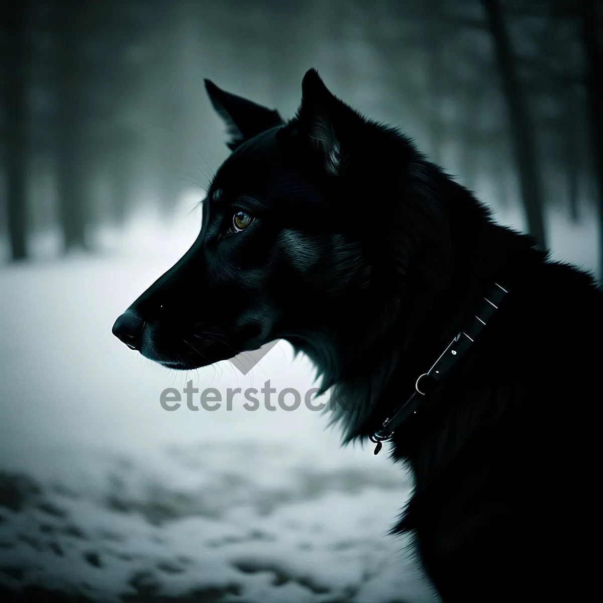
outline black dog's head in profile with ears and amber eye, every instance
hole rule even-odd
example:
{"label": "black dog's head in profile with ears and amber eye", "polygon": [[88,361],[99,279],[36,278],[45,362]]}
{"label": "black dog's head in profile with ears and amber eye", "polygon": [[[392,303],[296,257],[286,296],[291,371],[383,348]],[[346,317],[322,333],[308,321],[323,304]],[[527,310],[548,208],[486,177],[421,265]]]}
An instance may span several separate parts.
{"label": "black dog's head in profile with ears and amber eye", "polygon": [[286,124],[206,87],[233,152],[203,203],[197,240],[113,332],[181,369],[277,338],[323,369],[336,356],[329,348],[370,347],[396,321],[412,256],[426,256],[421,278],[435,282],[447,269],[447,227],[423,160],[397,131],[335,98],[314,70]]}

